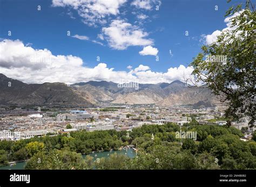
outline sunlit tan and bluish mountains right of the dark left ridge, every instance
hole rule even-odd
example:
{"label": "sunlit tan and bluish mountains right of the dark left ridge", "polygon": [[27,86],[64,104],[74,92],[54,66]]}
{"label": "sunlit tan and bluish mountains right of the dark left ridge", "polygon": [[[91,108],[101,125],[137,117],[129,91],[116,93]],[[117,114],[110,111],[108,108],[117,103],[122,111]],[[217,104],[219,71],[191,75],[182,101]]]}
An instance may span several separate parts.
{"label": "sunlit tan and bluish mountains right of the dark left ridge", "polygon": [[118,88],[117,83],[106,81],[89,81],[76,83],[72,88],[78,92],[91,95],[95,103],[112,104],[157,104],[161,106],[197,104],[207,106],[217,103],[215,96],[207,88],[189,88],[186,83],[139,84],[139,88]]}

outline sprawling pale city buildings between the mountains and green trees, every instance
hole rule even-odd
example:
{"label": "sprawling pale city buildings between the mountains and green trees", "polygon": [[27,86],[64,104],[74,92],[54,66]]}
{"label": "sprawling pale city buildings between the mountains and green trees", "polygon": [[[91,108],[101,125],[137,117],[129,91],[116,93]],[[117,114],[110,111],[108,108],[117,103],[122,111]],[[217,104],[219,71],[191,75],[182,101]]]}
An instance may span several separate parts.
{"label": "sprawling pale city buildings between the mountains and green trees", "polygon": [[[111,110],[111,108],[114,110]],[[56,135],[80,130],[89,132],[104,130],[132,131],[133,128],[151,124],[176,123],[183,126],[190,123],[192,117],[196,118],[201,125],[226,124],[224,120],[215,120],[215,118],[224,115],[216,107],[192,109],[185,106],[123,105],[104,106],[104,109],[107,110],[99,110],[99,107],[87,108],[86,110],[45,109],[44,111],[18,108],[15,109],[16,113],[19,111],[18,115],[15,112],[11,112],[12,114],[15,113],[14,115],[9,113],[7,115],[5,113],[0,114],[0,140],[29,139],[34,136]],[[67,129],[68,124],[72,128]],[[245,118],[239,122],[232,122],[232,125],[241,130],[242,127],[248,126],[248,120]]]}

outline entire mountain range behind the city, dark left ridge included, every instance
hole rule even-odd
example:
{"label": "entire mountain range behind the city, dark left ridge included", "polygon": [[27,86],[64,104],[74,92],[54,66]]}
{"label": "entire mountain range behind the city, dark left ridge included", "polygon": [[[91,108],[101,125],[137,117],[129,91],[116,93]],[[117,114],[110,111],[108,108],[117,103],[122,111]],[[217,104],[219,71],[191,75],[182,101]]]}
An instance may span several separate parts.
{"label": "entire mountain range behind the city, dark left ridge included", "polygon": [[[134,85],[134,84],[129,84]],[[120,88],[107,81],[26,84],[0,74],[0,104],[90,106],[110,104],[156,104],[159,106],[214,106],[216,97],[208,88],[187,87],[184,82],[139,84]]]}

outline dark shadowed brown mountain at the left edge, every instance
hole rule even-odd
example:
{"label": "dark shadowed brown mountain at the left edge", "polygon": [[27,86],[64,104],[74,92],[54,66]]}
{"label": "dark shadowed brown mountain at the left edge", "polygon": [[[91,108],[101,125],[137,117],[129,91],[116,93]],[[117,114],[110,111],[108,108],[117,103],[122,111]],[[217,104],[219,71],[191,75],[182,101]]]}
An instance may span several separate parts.
{"label": "dark shadowed brown mountain at the left edge", "polygon": [[0,74],[0,104],[91,105],[86,96],[64,83],[25,84]]}

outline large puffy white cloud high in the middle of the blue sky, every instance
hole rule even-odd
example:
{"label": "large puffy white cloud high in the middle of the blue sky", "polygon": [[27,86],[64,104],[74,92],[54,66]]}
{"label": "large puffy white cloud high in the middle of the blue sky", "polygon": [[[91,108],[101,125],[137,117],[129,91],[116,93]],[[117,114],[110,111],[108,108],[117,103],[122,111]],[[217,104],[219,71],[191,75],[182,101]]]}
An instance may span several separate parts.
{"label": "large puffy white cloud high in the middle of the blue sky", "polygon": [[145,39],[149,34],[142,29],[124,20],[113,20],[109,27],[103,27],[104,38],[109,42],[109,46],[123,50],[129,46],[152,45],[152,39]]}

